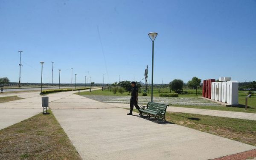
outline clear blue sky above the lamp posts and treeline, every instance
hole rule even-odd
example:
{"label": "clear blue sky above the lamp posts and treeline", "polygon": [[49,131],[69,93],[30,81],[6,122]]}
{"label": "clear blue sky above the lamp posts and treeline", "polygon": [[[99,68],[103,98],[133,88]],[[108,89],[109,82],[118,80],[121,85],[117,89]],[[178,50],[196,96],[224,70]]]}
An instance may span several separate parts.
{"label": "clear blue sky above the lamp posts and treeline", "polygon": [[[0,77],[12,82],[256,80],[256,0],[0,0]],[[73,76],[73,80],[74,80]]]}

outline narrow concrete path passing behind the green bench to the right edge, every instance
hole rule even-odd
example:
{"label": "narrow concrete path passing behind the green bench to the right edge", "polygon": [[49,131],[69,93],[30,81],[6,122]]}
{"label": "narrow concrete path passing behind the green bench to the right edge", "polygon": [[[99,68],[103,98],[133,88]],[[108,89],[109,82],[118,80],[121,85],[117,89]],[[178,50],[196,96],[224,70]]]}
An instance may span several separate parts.
{"label": "narrow concrete path passing behind the green bench to the right edge", "polygon": [[[116,107],[122,107],[122,108],[128,108],[128,109],[130,108],[128,104],[124,104],[124,103],[108,103],[108,104]],[[218,111],[218,110],[211,110],[211,109],[193,109],[193,108],[174,107],[174,106],[169,106],[166,111],[201,114],[201,115],[217,116],[217,117],[238,118],[238,119],[244,119],[244,120],[256,120],[255,113],[244,113],[244,112],[237,112],[237,111]]]}

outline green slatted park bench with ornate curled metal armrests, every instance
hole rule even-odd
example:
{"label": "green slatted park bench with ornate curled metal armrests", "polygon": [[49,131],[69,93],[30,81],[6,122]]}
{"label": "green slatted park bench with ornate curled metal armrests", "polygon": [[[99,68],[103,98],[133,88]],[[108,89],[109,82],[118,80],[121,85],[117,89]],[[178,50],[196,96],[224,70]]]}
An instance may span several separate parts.
{"label": "green slatted park bench with ornate curled metal armrests", "polygon": [[165,120],[166,108],[168,106],[169,104],[148,102],[147,106],[140,106],[140,112],[148,117]]}

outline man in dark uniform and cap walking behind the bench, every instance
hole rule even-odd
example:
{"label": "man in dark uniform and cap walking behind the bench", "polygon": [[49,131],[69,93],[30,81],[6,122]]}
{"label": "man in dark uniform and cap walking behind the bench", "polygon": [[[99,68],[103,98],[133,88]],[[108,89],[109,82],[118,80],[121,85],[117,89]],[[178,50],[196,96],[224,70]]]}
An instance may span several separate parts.
{"label": "man in dark uniform and cap walking behind the bench", "polygon": [[[130,100],[130,113],[127,115],[132,115],[133,107],[135,106],[136,109],[140,111],[140,107],[138,106],[138,87],[136,86],[136,82],[131,82],[131,100]],[[140,114],[139,114],[140,115]]]}

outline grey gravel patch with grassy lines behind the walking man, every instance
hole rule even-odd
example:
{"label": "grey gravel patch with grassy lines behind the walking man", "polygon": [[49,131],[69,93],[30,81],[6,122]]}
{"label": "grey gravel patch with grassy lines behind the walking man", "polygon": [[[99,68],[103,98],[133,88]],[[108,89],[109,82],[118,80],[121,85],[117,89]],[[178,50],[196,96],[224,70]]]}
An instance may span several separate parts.
{"label": "grey gravel patch with grassy lines behind the walking man", "polygon": [[[130,103],[130,96],[99,96],[83,95],[84,97],[105,103]],[[147,104],[151,97],[139,96],[139,104]],[[218,103],[195,97],[154,97],[154,102],[171,105],[189,105],[189,106],[219,106]]]}

